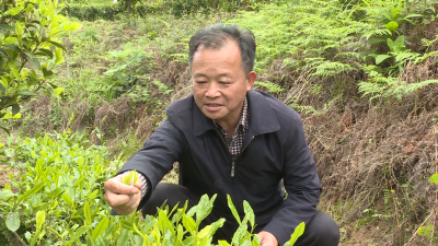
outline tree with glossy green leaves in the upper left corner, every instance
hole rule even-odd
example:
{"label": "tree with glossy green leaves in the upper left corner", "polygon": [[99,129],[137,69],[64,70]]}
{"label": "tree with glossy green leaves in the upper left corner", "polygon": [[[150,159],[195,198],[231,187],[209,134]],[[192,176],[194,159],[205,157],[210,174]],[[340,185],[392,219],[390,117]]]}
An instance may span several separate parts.
{"label": "tree with glossy green leaves in the upper left corner", "polygon": [[39,91],[59,96],[64,89],[47,82],[66,48],[59,34],[81,24],[59,14],[58,0],[0,1],[0,128],[4,119],[20,118],[20,103]]}

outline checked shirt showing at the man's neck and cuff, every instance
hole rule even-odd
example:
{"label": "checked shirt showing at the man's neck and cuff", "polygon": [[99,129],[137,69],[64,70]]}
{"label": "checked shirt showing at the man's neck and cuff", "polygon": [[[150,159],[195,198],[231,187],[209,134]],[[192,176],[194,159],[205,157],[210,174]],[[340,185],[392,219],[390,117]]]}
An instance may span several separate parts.
{"label": "checked shirt showing at the man's neck and cuff", "polygon": [[[243,137],[245,137],[250,122],[250,112],[247,110],[246,97],[245,101],[243,101],[243,112],[232,137],[227,133],[227,130],[222,126],[220,126],[218,121],[214,120],[212,122],[226,141],[227,148],[230,151],[231,156],[237,157],[242,151]],[[120,175],[127,175],[129,172],[130,171],[126,171]],[[138,176],[141,181],[141,198],[143,198],[145,195],[148,192],[148,181],[141,173],[138,173]]]}

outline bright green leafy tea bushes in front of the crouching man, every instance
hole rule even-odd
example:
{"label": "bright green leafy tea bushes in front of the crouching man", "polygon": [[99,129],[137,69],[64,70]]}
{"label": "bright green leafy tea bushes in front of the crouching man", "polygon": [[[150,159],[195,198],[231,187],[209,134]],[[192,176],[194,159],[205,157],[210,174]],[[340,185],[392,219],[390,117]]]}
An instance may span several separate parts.
{"label": "bright green leafy tea bushes in front of the crouching man", "polygon": [[[139,213],[112,216],[103,199],[103,183],[114,175],[122,160],[108,161],[105,147],[87,145],[84,134],[70,130],[24,140],[8,139],[8,160],[3,161],[11,163],[18,173],[10,175],[10,185],[0,191],[0,230],[10,243],[211,245],[212,235],[224,219],[204,229],[199,224],[210,213],[216,196],[210,199],[203,196],[189,210],[187,203],[181,209],[162,208],[157,216],[140,219]],[[255,224],[250,204],[244,201],[242,221],[230,197],[229,207],[240,223],[231,244],[260,245],[258,237],[251,233]],[[293,245],[303,227],[303,223],[297,227],[287,245]],[[220,241],[219,245],[230,244]]]}

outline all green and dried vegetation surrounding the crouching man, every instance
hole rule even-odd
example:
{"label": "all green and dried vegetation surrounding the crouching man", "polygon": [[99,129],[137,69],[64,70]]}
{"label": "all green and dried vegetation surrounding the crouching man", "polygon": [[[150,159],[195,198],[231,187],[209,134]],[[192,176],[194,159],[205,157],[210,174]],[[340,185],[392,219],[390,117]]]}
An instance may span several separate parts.
{"label": "all green and dried vegetation surrounding the crouching man", "polygon": [[[427,180],[437,172],[438,1],[62,3],[0,3],[7,244],[208,245],[223,222],[199,231],[198,218],[214,197],[140,220],[111,216],[102,189],[165,106],[191,92],[188,38],[216,23],[254,32],[255,89],[301,113],[324,186],[320,209],[343,223],[345,244],[370,225],[381,231],[370,245],[437,242]],[[219,245],[256,245],[252,218],[247,206],[233,242]]]}

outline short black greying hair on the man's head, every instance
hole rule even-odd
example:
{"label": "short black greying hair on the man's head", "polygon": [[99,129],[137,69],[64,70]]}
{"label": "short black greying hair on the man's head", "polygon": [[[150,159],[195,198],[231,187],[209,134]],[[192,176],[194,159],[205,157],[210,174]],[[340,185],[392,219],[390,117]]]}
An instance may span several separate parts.
{"label": "short black greying hair on the man's head", "polygon": [[188,43],[188,63],[192,68],[193,56],[199,46],[205,48],[220,49],[228,40],[238,44],[242,57],[242,68],[249,74],[254,69],[255,37],[247,28],[238,25],[217,24],[198,31]]}

